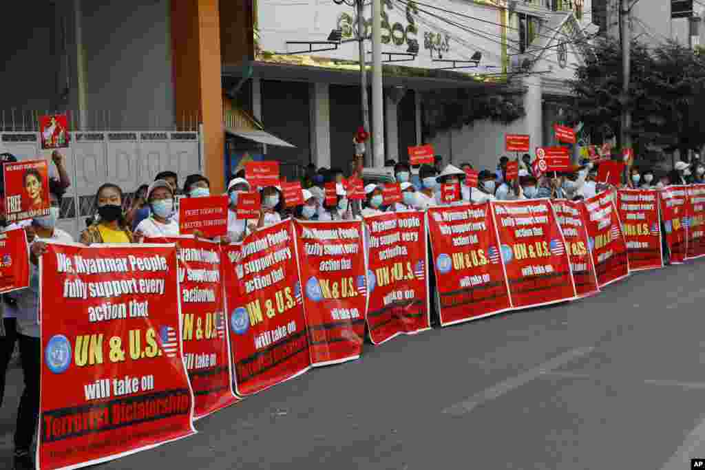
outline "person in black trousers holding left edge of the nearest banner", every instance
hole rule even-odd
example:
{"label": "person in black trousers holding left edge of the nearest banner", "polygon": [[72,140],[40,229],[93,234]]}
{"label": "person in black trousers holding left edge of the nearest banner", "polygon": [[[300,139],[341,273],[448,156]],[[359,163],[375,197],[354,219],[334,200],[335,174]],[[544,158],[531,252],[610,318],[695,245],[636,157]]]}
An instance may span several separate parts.
{"label": "person in black trousers holding left edge of the nearest banner", "polygon": [[39,256],[47,251],[46,242],[71,243],[73,238],[60,228],[56,228],[61,211],[61,197],[65,188],[57,180],[49,180],[49,215],[32,220],[35,237],[30,246],[30,285],[26,289],[11,292],[13,309],[17,318],[17,340],[20,345],[20,358],[25,376],[25,390],[20,398],[15,429],[15,469],[34,469],[30,446],[35,437],[39,419],[39,376],[41,364],[41,343],[39,341]]}

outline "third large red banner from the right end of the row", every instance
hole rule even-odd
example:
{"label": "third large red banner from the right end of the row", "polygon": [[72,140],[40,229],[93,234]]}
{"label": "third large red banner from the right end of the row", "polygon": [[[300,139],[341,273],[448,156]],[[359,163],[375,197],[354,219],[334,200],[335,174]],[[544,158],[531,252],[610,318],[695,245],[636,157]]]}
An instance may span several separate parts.
{"label": "third large red banner from the right end of the row", "polygon": [[656,190],[618,190],[617,209],[631,271],[663,267]]}

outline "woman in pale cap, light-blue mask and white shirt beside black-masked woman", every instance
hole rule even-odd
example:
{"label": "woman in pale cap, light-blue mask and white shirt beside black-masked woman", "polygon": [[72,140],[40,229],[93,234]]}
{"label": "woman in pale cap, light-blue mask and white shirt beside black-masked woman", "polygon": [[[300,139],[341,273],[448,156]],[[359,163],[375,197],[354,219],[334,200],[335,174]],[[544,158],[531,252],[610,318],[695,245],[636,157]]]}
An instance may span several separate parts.
{"label": "woman in pale cap, light-blue mask and white shirt beside black-masked woman", "polygon": [[147,190],[147,204],[151,209],[149,217],[135,229],[135,240],[139,243],[149,238],[177,237],[178,222],[173,218],[174,195],[171,185],[157,180]]}

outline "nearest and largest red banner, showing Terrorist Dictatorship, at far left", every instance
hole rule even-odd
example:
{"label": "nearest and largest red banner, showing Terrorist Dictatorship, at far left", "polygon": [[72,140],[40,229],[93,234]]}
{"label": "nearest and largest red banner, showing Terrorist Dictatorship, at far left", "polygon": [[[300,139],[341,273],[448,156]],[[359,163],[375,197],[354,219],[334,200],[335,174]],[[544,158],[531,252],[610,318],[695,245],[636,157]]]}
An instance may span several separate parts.
{"label": "nearest and largest red banner, showing Terrorist Dictatorship, at far left", "polygon": [[49,244],[40,266],[39,468],[195,433],[175,245]]}

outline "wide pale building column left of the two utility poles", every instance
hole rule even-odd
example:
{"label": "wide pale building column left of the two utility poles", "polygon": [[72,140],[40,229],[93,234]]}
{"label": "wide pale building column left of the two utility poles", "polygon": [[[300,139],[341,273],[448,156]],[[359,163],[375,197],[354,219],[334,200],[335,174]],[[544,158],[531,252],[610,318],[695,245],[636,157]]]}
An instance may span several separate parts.
{"label": "wide pale building column left of the two utility poles", "polygon": [[[331,168],[331,102],[328,84],[312,83],[309,102],[312,163],[316,168]],[[352,139],[350,147],[353,147]]]}

